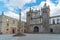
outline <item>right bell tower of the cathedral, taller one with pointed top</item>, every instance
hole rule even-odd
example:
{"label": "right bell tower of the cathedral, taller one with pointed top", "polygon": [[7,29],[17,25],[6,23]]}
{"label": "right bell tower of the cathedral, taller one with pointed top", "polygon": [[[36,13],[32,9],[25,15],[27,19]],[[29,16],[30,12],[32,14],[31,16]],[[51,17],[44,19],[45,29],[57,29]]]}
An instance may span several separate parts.
{"label": "right bell tower of the cathedral, taller one with pointed top", "polygon": [[45,29],[44,31],[48,32],[50,8],[49,8],[49,6],[47,6],[46,2],[44,4],[44,6],[41,8],[41,13],[42,13],[42,25]]}

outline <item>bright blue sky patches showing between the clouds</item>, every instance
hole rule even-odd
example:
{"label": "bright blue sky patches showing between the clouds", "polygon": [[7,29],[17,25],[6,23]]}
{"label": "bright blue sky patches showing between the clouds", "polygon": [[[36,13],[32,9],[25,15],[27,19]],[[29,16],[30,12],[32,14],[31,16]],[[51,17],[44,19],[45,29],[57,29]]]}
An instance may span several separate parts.
{"label": "bright blue sky patches showing between the clouds", "polygon": [[[7,1],[7,3],[9,3],[9,1],[10,0],[6,0]],[[27,7],[30,7],[30,6],[36,6],[36,5],[39,5],[42,1],[45,1],[45,0],[36,0],[36,2],[30,2],[30,3],[25,3],[24,5],[23,5],[23,8],[24,9],[27,9]],[[57,1],[57,0],[51,0],[54,4],[58,4],[58,2],[55,2],[55,1]],[[14,7],[14,12],[15,13],[19,13],[19,7]],[[9,11],[9,9],[6,7],[6,5],[5,5],[5,3],[4,3],[4,1],[0,1],[0,13],[2,12],[2,11],[4,11],[4,12],[7,12],[7,11]],[[12,10],[10,10],[10,11],[12,11]]]}

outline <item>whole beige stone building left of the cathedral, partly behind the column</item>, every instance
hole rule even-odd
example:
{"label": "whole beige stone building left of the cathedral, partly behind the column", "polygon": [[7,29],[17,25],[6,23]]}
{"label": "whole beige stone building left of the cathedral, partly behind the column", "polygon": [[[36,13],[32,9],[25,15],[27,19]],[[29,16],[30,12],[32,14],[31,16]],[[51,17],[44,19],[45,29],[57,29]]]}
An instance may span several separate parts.
{"label": "whole beige stone building left of the cathedral, partly behind the column", "polygon": [[[0,15],[0,33],[3,34],[16,34],[18,30],[18,19],[6,16],[2,13]],[[23,22],[20,24],[22,26],[21,32],[23,32]]]}

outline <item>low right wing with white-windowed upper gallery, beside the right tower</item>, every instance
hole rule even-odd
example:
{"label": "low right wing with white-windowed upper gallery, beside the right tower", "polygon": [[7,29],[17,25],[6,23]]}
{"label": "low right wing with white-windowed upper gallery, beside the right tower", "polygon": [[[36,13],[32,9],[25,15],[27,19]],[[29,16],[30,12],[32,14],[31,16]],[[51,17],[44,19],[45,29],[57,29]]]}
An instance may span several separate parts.
{"label": "low right wing with white-windowed upper gallery, beside the right tower", "polygon": [[49,30],[53,30],[53,33],[60,33],[60,15],[50,17]]}

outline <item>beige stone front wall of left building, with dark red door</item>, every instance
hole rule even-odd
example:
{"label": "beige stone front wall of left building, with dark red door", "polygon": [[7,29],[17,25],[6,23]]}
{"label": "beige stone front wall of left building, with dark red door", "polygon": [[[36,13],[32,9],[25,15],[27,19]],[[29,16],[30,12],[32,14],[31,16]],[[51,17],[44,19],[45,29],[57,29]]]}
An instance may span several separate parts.
{"label": "beige stone front wall of left building, with dark red door", "polygon": [[12,34],[17,32],[18,20],[2,15],[1,32],[4,34]]}

